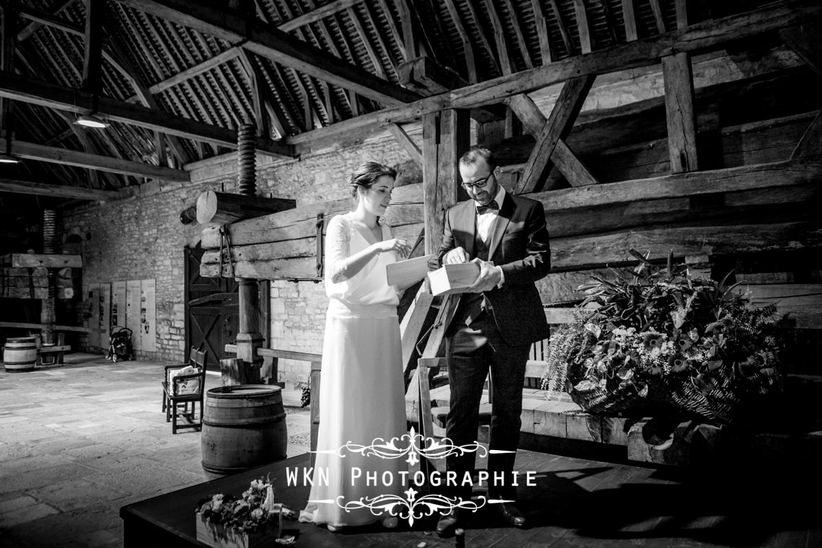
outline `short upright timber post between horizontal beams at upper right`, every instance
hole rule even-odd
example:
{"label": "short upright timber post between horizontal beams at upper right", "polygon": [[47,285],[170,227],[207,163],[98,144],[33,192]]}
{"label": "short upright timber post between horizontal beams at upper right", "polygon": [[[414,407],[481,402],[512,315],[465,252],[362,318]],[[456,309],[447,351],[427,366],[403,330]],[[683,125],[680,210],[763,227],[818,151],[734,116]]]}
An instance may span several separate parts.
{"label": "short upright timber post between horizontal beams at upper right", "polygon": [[671,172],[695,171],[699,169],[699,162],[696,157],[694,80],[690,56],[675,53],[664,57],[663,78]]}

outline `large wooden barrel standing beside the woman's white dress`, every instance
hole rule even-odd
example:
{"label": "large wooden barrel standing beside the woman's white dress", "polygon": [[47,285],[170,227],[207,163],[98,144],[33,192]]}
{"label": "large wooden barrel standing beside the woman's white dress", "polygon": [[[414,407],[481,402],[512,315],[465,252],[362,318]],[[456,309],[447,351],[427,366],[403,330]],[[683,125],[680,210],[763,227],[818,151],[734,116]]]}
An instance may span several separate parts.
{"label": "large wooden barrel standing beside the woman's white dress", "polygon": [[286,456],[283,394],[279,386],[234,385],[205,393],[202,465],[215,476],[242,472]]}

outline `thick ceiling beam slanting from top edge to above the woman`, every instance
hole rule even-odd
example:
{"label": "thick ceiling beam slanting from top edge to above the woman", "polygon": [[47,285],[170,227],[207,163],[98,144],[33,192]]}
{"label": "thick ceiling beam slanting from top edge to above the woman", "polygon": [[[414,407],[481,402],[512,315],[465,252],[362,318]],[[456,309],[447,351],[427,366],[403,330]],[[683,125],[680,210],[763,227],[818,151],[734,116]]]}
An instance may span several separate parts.
{"label": "thick ceiling beam slanting from top edge to above the woman", "polygon": [[242,47],[263,58],[330,84],[355,90],[382,104],[395,105],[418,99],[417,94],[353,67],[325,51],[312,48],[282,30],[260,21],[247,21],[238,12],[218,10],[192,0],[122,0],[122,3],[233,44],[247,40],[242,42]]}

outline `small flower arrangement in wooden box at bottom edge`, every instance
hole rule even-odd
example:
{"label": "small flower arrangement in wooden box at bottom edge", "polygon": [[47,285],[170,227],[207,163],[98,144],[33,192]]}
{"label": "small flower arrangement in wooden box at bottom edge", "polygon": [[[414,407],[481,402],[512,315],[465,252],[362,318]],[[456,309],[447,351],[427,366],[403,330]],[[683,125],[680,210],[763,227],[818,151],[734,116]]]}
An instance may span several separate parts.
{"label": "small flower arrangement in wooden box at bottom edge", "polygon": [[[282,529],[282,504],[274,502],[274,486],[267,478],[253,480],[237,498],[233,495],[211,495],[197,503],[198,540],[215,546],[233,546],[228,541],[252,534],[279,536]],[[201,535],[201,524],[209,533]],[[205,538],[201,538],[204,536]],[[239,546],[248,546],[238,542]]]}

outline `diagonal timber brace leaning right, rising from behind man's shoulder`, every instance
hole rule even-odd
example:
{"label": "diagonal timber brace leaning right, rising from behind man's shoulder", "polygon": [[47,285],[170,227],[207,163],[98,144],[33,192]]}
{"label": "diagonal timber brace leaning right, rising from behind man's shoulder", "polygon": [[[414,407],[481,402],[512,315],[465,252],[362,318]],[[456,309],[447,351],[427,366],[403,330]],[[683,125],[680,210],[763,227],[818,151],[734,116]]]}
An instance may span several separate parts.
{"label": "diagonal timber brace leaning right, rising from behind man's shoulder", "polygon": [[585,97],[593,85],[593,76],[580,76],[566,82],[548,121],[539,132],[537,143],[525,165],[522,178],[517,183],[514,193],[524,194],[541,190],[544,179],[552,166],[551,156],[557,141],[565,139],[580,113]]}

